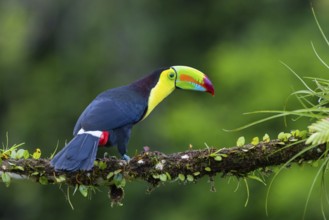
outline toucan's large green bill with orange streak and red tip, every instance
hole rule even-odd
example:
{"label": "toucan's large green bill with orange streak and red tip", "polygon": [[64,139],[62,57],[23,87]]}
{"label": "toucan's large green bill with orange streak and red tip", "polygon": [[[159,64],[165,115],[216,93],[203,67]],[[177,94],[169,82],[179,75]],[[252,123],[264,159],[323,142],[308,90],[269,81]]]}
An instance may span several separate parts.
{"label": "toucan's large green bill with orange streak and red tip", "polygon": [[177,88],[209,92],[215,95],[214,86],[204,73],[188,66],[172,66],[171,68],[177,74]]}

